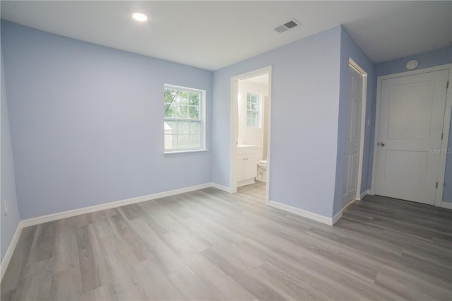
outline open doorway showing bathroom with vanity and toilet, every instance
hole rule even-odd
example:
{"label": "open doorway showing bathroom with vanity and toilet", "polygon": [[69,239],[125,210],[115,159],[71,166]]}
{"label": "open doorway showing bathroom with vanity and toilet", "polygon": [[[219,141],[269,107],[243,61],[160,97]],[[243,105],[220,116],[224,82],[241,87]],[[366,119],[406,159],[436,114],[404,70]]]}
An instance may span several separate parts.
{"label": "open doorway showing bathroom with vanity and toilet", "polygon": [[230,188],[261,187],[270,179],[271,67],[231,78]]}

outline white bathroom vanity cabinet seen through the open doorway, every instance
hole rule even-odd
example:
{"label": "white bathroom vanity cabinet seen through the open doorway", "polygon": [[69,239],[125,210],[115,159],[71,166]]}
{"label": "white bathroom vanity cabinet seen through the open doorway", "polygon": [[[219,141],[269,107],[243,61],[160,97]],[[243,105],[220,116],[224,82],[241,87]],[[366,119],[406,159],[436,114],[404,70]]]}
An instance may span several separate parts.
{"label": "white bathroom vanity cabinet seen through the open doorway", "polygon": [[257,147],[237,147],[237,187],[254,183],[257,170]]}

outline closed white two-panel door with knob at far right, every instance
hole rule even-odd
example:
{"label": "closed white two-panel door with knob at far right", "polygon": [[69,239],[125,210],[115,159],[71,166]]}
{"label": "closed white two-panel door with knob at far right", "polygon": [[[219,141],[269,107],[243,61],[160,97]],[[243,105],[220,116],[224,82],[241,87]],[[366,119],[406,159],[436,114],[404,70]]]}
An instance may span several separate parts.
{"label": "closed white two-panel door with knob at far right", "polygon": [[375,194],[434,204],[448,70],[381,81]]}

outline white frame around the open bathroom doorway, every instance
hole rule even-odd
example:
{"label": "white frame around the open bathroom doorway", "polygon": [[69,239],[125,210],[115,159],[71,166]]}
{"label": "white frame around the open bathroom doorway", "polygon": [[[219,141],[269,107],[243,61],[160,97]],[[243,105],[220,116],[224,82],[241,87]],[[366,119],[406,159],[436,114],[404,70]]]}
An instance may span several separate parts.
{"label": "white frame around the open bathroom doorway", "polygon": [[256,69],[246,73],[231,77],[231,101],[230,101],[230,192],[232,194],[237,192],[237,139],[238,139],[238,124],[239,124],[239,81],[268,74],[268,122],[267,122],[267,182],[266,182],[266,205],[268,205],[269,187],[270,187],[270,123],[271,123],[271,65]]}

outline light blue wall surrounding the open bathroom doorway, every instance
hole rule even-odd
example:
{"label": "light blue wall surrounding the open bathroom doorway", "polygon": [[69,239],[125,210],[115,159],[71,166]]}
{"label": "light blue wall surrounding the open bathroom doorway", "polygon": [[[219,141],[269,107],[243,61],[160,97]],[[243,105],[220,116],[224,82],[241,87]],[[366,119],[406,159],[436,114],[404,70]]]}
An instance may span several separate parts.
{"label": "light blue wall surrounding the open bathroom doorway", "polygon": [[332,216],[340,32],[337,26],[214,72],[213,182],[230,184],[230,78],[271,65],[270,200]]}

